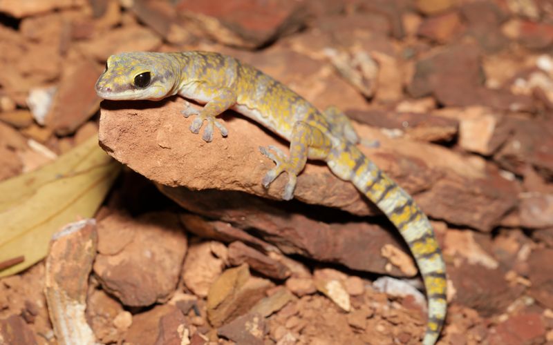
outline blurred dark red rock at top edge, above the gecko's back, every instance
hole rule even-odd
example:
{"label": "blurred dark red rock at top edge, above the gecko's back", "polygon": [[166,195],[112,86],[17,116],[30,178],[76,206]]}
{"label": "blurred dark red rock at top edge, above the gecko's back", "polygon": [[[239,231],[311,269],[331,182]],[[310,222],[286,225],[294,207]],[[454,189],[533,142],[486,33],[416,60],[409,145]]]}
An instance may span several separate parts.
{"label": "blurred dark red rock at top edge, above the gecko's back", "polygon": [[180,1],[178,12],[229,46],[258,48],[303,27],[308,11],[293,0]]}

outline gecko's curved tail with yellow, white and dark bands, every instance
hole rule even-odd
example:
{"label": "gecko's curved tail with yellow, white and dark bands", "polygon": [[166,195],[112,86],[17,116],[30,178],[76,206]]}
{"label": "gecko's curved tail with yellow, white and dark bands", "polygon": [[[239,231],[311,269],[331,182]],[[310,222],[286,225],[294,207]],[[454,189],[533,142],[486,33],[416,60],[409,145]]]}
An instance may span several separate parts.
{"label": "gecko's curved tail with yellow, white and dark bands", "polygon": [[[344,163],[347,162],[347,163]],[[446,302],[445,263],[432,226],[413,198],[353,145],[332,152],[328,166],[355,187],[400,230],[409,245],[427,289],[428,323],[422,344],[433,345],[444,324]]]}

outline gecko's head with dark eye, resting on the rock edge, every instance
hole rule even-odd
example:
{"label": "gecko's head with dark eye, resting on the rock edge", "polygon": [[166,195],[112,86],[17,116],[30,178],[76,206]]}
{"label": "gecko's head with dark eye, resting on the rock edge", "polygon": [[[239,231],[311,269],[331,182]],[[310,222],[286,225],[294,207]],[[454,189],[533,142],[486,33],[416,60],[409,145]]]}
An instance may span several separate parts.
{"label": "gecko's head with dark eye, resting on the rock edge", "polygon": [[109,57],[95,90],[103,99],[162,99],[174,95],[178,73],[168,55],[123,52]]}

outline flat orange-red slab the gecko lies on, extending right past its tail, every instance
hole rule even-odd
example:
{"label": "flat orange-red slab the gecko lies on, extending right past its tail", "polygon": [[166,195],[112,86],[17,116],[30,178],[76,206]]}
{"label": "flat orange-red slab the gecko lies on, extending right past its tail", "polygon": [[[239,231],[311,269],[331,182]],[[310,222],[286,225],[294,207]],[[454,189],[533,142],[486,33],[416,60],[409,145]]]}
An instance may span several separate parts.
{"label": "flat orange-red slab the gecko lies on, extending right past its tail", "polygon": [[[280,199],[286,177],[281,175],[265,190],[259,181],[274,164],[258,152],[259,146],[274,145],[286,150],[288,144],[268,135],[256,124],[234,116],[223,116],[228,137],[216,136],[214,141],[206,143],[200,135],[189,131],[191,120],[180,115],[183,103],[178,98],[159,102],[104,102],[100,144],[115,159],[160,184],[193,190],[242,190]],[[465,218],[485,219],[483,224],[471,221],[467,225],[489,230],[498,221],[498,215],[503,215],[516,202],[516,184],[493,170],[487,171],[485,162],[478,157],[463,157],[439,146],[405,139],[390,139],[366,126],[358,126],[357,130],[362,138],[380,142],[378,149],[361,149],[400,186],[415,194],[415,199],[418,191],[425,190],[425,201],[432,200],[427,206],[432,207],[423,207],[423,210],[433,217],[451,220],[454,224],[466,224],[462,221]],[[482,188],[464,187],[474,180],[480,180]],[[469,203],[467,208],[458,208],[458,204],[448,205],[446,200],[438,202],[431,188],[438,181],[441,181],[438,197],[450,198],[451,193],[471,202],[476,199],[482,205],[490,201],[496,205],[472,208]],[[502,187],[499,193],[498,186]],[[337,179],[321,164],[306,166],[299,175],[295,196],[301,201],[341,208],[357,215],[367,215],[373,209],[352,184]],[[443,208],[432,209],[440,203]]]}

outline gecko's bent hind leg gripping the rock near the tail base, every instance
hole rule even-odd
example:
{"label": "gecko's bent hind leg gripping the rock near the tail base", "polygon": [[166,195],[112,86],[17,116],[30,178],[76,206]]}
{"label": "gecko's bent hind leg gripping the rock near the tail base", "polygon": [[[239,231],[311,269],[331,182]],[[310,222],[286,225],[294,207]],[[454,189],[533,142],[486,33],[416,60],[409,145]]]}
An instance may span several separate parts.
{"label": "gecko's bent hind leg gripping the rock near the tail base", "polygon": [[324,159],[330,152],[330,140],[317,128],[309,126],[306,122],[297,121],[292,128],[289,157],[274,146],[260,147],[259,150],[277,164],[263,177],[263,186],[268,188],[282,172],[287,172],[288,183],[284,187],[282,198],[290,200],[294,197],[297,175],[306,166],[307,159]]}

